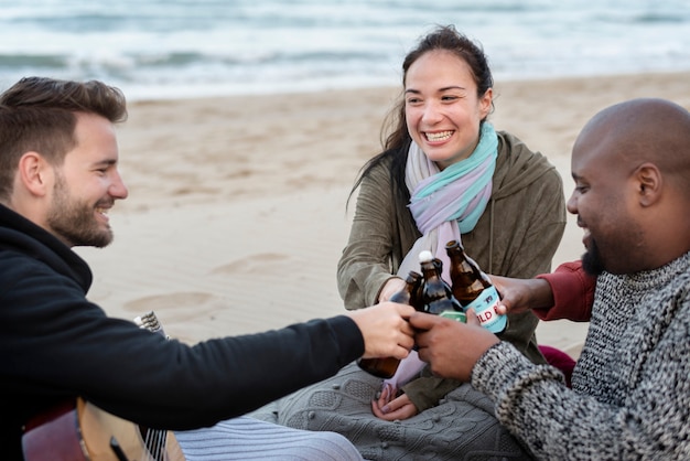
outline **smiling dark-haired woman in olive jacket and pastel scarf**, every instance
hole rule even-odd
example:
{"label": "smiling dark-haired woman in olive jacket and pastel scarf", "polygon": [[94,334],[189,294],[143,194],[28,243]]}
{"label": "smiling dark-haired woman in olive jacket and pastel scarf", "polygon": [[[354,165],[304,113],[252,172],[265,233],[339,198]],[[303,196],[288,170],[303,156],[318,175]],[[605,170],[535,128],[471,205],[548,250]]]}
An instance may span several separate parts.
{"label": "smiling dark-haired woman in olive jacket and pastel scarf", "polygon": [[[449,240],[462,242],[489,274],[530,278],[550,271],[565,227],[561,176],[543,156],[488,121],[493,77],[483,50],[453,26],[441,26],[407,55],[402,73],[385,150],[364,167],[353,189],[359,187],[357,206],[337,270],[345,307],[388,300],[410,270],[419,270],[421,250],[444,261],[450,282]],[[532,362],[545,363],[535,337],[537,323],[531,312],[510,314],[499,336]],[[448,457],[487,449],[486,439],[473,430],[493,433],[494,440],[510,439],[490,412],[479,410],[488,408],[487,400],[455,380],[423,372],[377,399],[381,382],[365,375],[347,367],[336,378],[289,397],[280,406],[279,421],[341,431],[367,459],[381,459],[379,433],[399,435],[386,439],[390,443],[384,458],[391,459],[410,453],[421,458],[424,453],[416,450],[422,446]],[[371,389],[370,395],[348,394],[362,388]],[[341,401],[343,407],[333,416],[334,408],[315,407],[315,401]],[[477,418],[486,418],[486,425],[453,432],[453,427],[465,427],[459,418],[468,412],[482,414]],[[395,420],[405,420],[405,431]],[[425,425],[440,436],[429,437]],[[450,433],[471,442],[449,444]],[[419,443],[422,437],[424,443]],[[508,446],[513,454],[524,454],[517,443]]]}

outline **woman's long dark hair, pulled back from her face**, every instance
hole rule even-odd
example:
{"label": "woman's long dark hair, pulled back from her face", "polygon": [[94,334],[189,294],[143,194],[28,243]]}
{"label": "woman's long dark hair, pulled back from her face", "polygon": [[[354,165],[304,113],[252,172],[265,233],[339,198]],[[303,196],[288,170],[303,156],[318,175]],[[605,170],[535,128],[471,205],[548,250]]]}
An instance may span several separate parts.
{"label": "woman's long dark hair, pulled back from her face", "polygon": [[[472,72],[472,76],[477,86],[477,97],[482,97],[489,88],[494,86],[494,77],[488,66],[488,61],[484,54],[484,50],[467,39],[464,34],[457,32],[454,25],[441,25],[432,32],[423,36],[417,46],[410,51],[402,62],[402,92],[398,97],[398,103],[389,111],[381,128],[381,144],[384,152],[370,159],[360,170],[359,176],[355,181],[349,197],[362,183],[362,180],[369,171],[387,160],[391,159],[390,172],[392,176],[392,186],[397,190],[399,200],[407,203],[410,199],[407,186],[405,185],[405,167],[407,163],[407,154],[412,138],[407,129],[407,119],[405,115],[405,86],[407,73],[410,66],[422,55],[432,51],[448,51],[463,60]],[[484,120],[482,120],[484,122]],[[389,135],[386,135],[389,132]],[[349,202],[349,199],[348,199]]]}

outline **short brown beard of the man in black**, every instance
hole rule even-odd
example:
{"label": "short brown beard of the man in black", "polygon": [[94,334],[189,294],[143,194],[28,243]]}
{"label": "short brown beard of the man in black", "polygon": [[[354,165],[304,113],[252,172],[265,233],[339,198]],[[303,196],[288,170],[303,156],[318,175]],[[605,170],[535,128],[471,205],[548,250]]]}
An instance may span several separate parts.
{"label": "short brown beard of the man in black", "polygon": [[71,200],[66,182],[57,175],[55,195],[47,215],[47,225],[71,246],[103,248],[112,242],[110,227],[101,229],[94,217],[96,205]]}

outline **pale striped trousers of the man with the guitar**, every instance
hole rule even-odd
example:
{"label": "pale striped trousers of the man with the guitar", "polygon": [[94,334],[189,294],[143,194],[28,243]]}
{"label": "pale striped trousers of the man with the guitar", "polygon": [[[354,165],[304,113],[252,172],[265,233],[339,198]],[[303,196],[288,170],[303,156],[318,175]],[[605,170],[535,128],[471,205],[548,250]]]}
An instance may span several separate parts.
{"label": "pale striped trousers of the man with the guitar", "polygon": [[175,438],[186,461],[362,460],[357,449],[338,433],[292,429],[249,417],[175,431]]}

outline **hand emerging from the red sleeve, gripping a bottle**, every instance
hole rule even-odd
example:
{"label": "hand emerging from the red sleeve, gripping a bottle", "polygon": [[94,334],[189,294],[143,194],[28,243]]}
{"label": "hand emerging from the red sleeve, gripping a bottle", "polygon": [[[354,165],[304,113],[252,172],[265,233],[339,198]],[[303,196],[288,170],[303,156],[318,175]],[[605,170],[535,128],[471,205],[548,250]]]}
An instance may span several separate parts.
{"label": "hand emerging from the red sleeve, gripping a bottle", "polygon": [[514,279],[489,276],[500,294],[496,310],[500,314],[526,312],[530,309],[547,309],[553,305],[553,292],[543,279]]}

